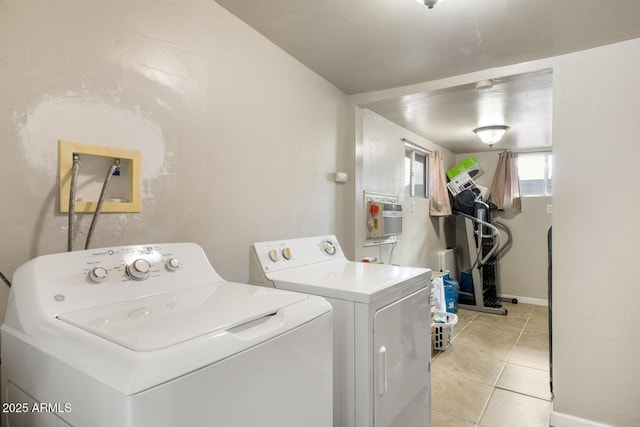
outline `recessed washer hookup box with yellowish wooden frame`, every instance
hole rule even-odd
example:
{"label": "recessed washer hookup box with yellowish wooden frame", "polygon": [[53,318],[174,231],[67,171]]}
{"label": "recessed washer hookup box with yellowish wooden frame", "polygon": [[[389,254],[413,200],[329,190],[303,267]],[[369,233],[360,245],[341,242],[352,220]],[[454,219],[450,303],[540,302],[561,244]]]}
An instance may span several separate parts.
{"label": "recessed washer hookup box with yellowish wooden frame", "polygon": [[76,183],[76,212],[95,212],[100,192],[114,159],[120,170],[109,182],[102,212],[140,212],[140,152],[79,142],[59,141],[60,212],[69,212],[73,155],[80,157]]}

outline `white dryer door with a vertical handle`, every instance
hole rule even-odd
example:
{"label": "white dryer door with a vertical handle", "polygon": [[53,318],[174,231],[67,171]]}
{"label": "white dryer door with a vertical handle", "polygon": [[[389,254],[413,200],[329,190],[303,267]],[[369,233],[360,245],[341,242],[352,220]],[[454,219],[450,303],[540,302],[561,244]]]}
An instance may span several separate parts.
{"label": "white dryer door with a vertical handle", "polygon": [[374,315],[375,426],[430,425],[429,313],[429,289],[423,288]]}

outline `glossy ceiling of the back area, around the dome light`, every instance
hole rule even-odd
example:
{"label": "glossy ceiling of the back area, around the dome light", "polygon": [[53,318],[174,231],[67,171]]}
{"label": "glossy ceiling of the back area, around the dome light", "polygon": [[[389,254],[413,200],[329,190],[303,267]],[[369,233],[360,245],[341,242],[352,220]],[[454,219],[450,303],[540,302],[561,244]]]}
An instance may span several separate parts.
{"label": "glossy ceiling of the back area, around the dome light", "polygon": [[486,83],[490,86],[463,85],[364,106],[454,153],[490,150],[473,133],[489,125],[510,126],[496,150],[550,149],[551,70]]}

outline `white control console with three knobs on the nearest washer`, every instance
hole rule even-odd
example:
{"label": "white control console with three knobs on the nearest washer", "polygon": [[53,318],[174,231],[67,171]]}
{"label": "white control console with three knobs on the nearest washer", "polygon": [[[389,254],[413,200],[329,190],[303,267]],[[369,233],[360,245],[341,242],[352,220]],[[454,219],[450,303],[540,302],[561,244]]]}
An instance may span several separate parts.
{"label": "white control console with three knobs on the nearest washer", "polygon": [[[133,261],[149,263],[149,278],[134,280],[126,272]],[[170,260],[178,267],[167,269]],[[104,280],[91,280],[103,269]],[[5,324],[31,335],[41,322],[61,313],[174,292],[207,283],[223,282],[204,251],[194,243],[123,246],[65,252],[34,258],[18,267],[7,305]],[[18,316],[20,313],[20,316]]]}

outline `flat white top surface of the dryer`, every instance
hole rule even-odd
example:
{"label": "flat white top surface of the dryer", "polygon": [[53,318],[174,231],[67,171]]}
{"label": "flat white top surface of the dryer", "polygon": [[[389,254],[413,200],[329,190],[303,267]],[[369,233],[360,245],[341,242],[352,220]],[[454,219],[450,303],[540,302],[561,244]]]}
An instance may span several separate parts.
{"label": "flat white top surface of the dryer", "polygon": [[368,304],[402,289],[427,286],[431,270],[337,259],[266,276],[279,289]]}

